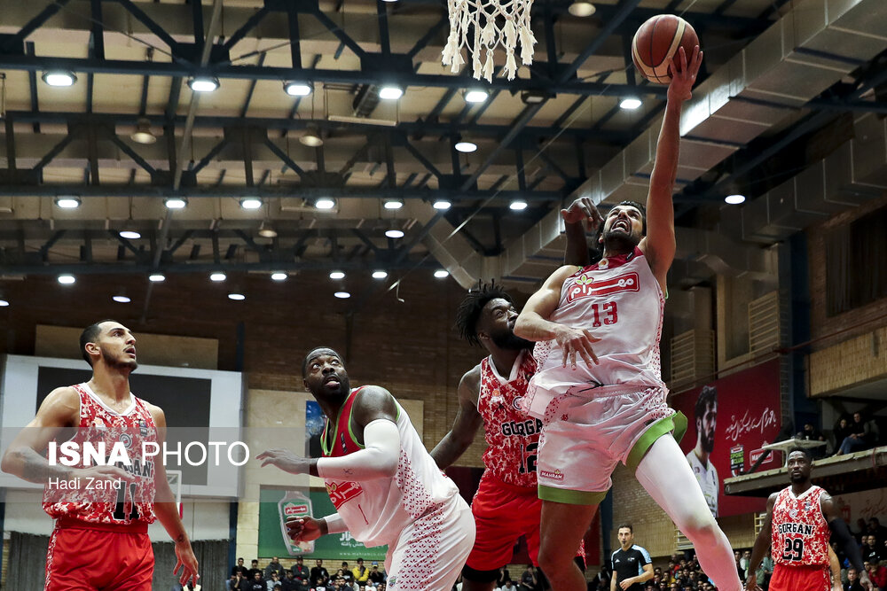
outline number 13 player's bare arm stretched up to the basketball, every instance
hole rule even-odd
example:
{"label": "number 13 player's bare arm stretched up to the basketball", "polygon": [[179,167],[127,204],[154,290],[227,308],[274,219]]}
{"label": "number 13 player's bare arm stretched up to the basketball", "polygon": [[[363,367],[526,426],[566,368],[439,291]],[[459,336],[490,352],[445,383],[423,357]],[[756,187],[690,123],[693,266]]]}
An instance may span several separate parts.
{"label": "number 13 player's bare arm stretched up to the basketball", "polygon": [[[697,45],[692,56],[679,48],[671,63],[671,83],[665,104],[663,127],[656,144],[653,174],[647,197],[647,237],[640,244],[653,269],[653,275],[665,288],[665,276],[674,259],[674,205],[671,194],[678,174],[680,154],[680,110],[684,101],[691,97],[690,90],[696,82],[696,74],[703,61],[703,52]],[[675,66],[679,66],[675,67]]]}

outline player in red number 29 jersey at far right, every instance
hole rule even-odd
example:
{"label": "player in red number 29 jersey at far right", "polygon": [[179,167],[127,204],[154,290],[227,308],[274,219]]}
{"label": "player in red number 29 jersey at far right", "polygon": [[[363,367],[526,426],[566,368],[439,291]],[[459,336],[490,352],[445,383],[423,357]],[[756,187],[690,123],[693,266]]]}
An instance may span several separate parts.
{"label": "player in red number 29 jersey at far right", "polygon": [[767,499],[767,517],[751,551],[747,591],[760,591],[755,572],[767,548],[773,553],[770,591],[829,591],[832,588],[828,540],[833,534],[851,564],[861,573],[860,582],[871,589],[862,568],[860,547],[838,515],[832,498],[810,481],[812,456],[804,448],[789,451],[787,467],[791,486]]}

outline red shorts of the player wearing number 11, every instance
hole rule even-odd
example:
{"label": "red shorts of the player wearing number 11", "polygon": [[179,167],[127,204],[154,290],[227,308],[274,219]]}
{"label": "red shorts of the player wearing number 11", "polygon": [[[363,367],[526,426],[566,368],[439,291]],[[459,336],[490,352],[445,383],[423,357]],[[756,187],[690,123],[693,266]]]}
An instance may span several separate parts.
{"label": "red shorts of the player wearing number 11", "polygon": [[46,555],[45,591],[151,591],[147,525],[59,520]]}

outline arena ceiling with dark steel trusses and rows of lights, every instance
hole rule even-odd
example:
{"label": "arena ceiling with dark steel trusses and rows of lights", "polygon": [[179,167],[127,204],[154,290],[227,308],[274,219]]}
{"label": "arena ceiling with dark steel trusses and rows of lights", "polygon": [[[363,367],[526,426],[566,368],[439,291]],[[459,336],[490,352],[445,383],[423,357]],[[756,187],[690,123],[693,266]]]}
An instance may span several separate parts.
{"label": "arena ceiling with dark steel trusses and rows of lights", "polygon": [[[442,66],[439,0],[0,0],[2,272],[443,266],[462,284],[538,281],[559,256],[562,204],[646,192],[665,88],[634,73],[630,44],[663,12],[687,19],[706,53],[675,195],[688,241],[765,271],[756,249],[883,191],[854,179],[826,197],[838,205],[796,203],[775,221],[768,205],[856,137],[860,118],[883,127],[868,117],[887,113],[883,0],[595,0],[585,18],[570,4],[537,0],[533,66],[508,82],[499,55],[488,83]],[[46,83],[56,71],[75,83]],[[218,89],[193,92],[207,76]],[[288,95],[287,82],[310,94]],[[386,86],[403,96],[380,97]],[[482,102],[466,100],[475,89]],[[640,108],[621,108],[626,97]],[[742,215],[725,206],[731,193],[749,199]],[[80,206],[60,208],[63,197]],[[173,197],[187,205],[167,208]],[[737,245],[752,249],[744,263],[729,261]]]}

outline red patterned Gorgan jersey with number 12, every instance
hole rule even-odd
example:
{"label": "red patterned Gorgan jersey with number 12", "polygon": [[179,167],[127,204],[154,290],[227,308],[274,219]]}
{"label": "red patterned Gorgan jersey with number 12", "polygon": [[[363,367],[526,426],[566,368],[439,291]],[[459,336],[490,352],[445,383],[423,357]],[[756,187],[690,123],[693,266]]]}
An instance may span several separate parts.
{"label": "red patterned Gorgan jersey with number 12", "polygon": [[513,486],[536,487],[536,456],[542,421],[527,416],[521,400],[527,393],[536,360],[521,354],[508,381],[498,376],[489,357],[481,362],[477,412],[483,417],[483,465],[496,478]]}

